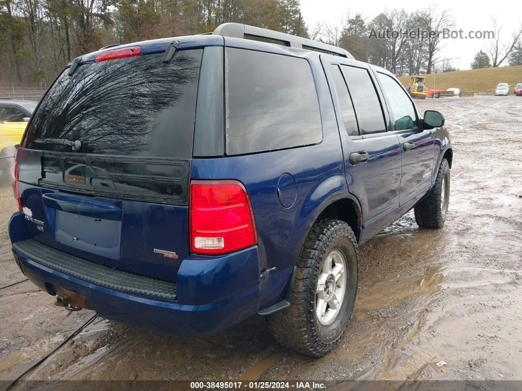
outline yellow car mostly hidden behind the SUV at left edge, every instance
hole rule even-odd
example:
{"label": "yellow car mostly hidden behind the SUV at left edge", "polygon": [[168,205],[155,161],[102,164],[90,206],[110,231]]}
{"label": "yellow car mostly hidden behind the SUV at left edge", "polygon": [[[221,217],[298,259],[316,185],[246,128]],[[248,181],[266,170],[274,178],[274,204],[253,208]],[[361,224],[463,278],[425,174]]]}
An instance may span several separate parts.
{"label": "yellow car mostly hidden behind the SUV at left edge", "polygon": [[2,180],[14,180],[15,145],[20,144],[27,122],[0,122],[0,170]]}

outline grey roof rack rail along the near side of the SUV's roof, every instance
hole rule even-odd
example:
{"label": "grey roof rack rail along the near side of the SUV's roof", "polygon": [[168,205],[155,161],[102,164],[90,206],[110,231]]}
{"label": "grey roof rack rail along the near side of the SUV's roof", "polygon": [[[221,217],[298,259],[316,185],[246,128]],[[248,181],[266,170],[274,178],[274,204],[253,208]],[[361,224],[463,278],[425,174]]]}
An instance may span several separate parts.
{"label": "grey roof rack rail along the near side of the SUV's roof", "polygon": [[327,43],[313,41],[308,38],[298,37],[297,35],[291,35],[284,32],[243,25],[241,23],[223,23],[222,25],[219,25],[212,34],[234,38],[264,38],[279,41],[284,46],[290,46],[291,48],[315,50],[354,60],[350,52],[345,49],[337,48],[337,46],[334,45],[328,45]]}

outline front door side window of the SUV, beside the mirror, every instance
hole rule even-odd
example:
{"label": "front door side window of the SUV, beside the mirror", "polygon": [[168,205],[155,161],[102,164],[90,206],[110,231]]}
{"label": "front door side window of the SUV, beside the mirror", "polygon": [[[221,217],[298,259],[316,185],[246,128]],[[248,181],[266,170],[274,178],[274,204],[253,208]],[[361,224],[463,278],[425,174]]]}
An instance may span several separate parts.
{"label": "front door side window of the SUV, beside the mirror", "polygon": [[388,97],[395,120],[395,130],[419,129],[415,108],[404,89],[388,75],[377,72],[377,77]]}

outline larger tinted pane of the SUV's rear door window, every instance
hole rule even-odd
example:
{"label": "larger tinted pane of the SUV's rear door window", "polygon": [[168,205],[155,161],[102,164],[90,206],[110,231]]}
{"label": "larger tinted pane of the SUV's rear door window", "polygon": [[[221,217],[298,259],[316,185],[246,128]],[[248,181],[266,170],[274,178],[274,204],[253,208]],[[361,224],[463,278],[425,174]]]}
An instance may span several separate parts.
{"label": "larger tinted pane of the SUV's rear door window", "polygon": [[343,65],[341,69],[348,82],[361,134],[385,132],[386,125],[381,103],[368,71],[346,65]]}

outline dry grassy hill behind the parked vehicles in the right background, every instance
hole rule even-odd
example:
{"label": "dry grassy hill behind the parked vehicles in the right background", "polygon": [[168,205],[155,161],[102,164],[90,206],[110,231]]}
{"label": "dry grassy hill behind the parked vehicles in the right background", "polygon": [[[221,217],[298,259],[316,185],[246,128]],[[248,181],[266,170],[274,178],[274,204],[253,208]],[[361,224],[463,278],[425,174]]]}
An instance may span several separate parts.
{"label": "dry grassy hill behind the parked vehicles in the right background", "polygon": [[[469,70],[456,70],[455,72],[437,73],[426,76],[426,86],[433,88],[435,77],[435,89],[445,91],[448,88],[460,88],[460,91],[490,92],[493,93],[499,83],[508,83],[509,92],[513,93],[515,84],[522,83],[522,65],[504,66],[499,68],[482,68]],[[408,86],[411,76],[399,77],[405,87]]]}

